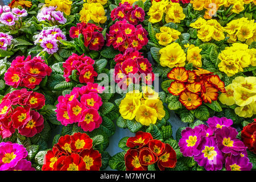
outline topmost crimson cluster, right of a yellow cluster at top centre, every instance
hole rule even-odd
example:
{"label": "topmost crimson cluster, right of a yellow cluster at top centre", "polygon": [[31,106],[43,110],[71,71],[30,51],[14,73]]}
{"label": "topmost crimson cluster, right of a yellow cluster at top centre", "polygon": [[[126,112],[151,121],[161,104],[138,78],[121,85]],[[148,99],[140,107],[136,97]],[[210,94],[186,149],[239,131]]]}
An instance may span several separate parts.
{"label": "topmost crimson cluster, right of a yellow cluster at top centre", "polygon": [[131,24],[138,24],[143,22],[145,12],[141,7],[130,5],[129,2],[119,3],[119,6],[111,11],[112,20],[127,20]]}

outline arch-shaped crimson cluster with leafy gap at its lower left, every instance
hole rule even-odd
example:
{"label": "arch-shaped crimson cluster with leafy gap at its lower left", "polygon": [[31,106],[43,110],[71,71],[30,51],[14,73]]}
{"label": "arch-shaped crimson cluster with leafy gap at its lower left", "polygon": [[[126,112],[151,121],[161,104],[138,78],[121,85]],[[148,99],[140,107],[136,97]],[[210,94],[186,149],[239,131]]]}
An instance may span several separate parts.
{"label": "arch-shaped crimson cluster with leafy gap at its lower left", "polygon": [[94,82],[94,77],[98,74],[94,71],[93,64],[95,61],[82,54],[81,56],[73,53],[68,59],[63,63],[64,77],[68,82],[70,81],[69,76],[72,75],[73,70],[77,70],[77,75],[79,76],[79,81],[81,83]]}

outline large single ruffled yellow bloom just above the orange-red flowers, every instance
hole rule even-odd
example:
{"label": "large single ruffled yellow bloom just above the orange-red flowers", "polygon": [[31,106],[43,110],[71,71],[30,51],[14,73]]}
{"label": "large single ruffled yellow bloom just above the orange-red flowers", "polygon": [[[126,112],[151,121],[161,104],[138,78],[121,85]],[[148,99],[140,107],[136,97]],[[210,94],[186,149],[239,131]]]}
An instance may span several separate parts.
{"label": "large single ruffled yellow bloom just above the orange-red flowers", "polygon": [[162,67],[184,67],[186,54],[178,43],[171,43],[160,49],[160,65]]}

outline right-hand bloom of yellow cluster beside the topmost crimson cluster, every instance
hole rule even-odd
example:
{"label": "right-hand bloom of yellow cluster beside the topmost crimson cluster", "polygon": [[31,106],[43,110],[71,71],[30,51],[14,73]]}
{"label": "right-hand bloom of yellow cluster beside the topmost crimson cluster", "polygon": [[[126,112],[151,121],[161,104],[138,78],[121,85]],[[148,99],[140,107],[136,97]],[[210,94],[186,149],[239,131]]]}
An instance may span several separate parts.
{"label": "right-hand bloom of yellow cluster beside the topmost crimson cluster", "polygon": [[92,3],[90,5],[90,18],[93,22],[105,23],[107,17],[105,16],[105,10],[101,3]]}

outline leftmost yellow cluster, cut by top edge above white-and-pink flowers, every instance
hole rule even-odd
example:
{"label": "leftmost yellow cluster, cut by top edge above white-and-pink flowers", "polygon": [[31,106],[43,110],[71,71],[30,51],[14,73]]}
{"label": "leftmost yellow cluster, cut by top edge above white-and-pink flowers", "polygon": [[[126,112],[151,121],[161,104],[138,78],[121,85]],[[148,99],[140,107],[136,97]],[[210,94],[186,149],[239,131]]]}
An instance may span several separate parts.
{"label": "leftmost yellow cluster, cut by top edge above white-and-pink flowers", "polygon": [[46,0],[46,6],[57,6],[57,11],[62,11],[66,15],[70,15],[72,1],[69,0]]}

